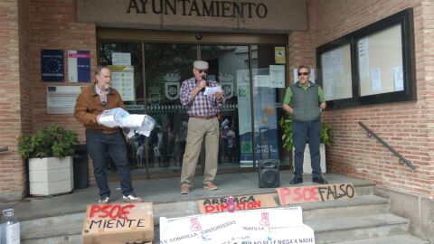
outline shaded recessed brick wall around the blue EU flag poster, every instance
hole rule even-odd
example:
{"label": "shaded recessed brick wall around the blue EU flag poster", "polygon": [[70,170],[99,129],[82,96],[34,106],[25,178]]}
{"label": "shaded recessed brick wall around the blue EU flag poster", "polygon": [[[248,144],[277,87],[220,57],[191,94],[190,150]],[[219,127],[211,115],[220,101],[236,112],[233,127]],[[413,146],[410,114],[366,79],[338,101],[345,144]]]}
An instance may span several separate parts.
{"label": "shaded recessed brick wall around the blue EU flag poster", "polygon": [[[41,50],[53,49],[65,52],[65,78],[68,77],[68,50],[90,51],[91,73],[97,65],[96,28],[90,23],[76,23],[74,0],[31,0],[32,16],[32,96],[33,96],[33,131],[57,123],[61,127],[79,132],[80,143],[85,142],[84,127],[73,115],[47,115],[46,88],[47,86],[83,86],[84,83],[69,83],[67,81],[42,82],[41,80]],[[91,166],[90,166],[91,167]],[[93,170],[90,168],[90,172]],[[92,174],[93,175],[93,174]],[[94,178],[90,177],[90,183]]]}

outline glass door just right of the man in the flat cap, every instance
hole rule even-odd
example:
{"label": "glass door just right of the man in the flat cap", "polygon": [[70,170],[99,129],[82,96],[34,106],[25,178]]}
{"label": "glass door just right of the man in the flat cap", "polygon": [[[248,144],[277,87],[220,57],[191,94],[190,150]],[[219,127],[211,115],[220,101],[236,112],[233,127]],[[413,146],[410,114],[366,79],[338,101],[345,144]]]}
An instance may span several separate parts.
{"label": "glass door just right of the man in the flat cap", "polygon": [[245,76],[250,69],[249,45],[207,44],[200,51],[210,65],[208,79],[219,81],[226,97],[220,118],[219,173],[233,172],[245,165],[245,138],[251,136],[250,80]]}

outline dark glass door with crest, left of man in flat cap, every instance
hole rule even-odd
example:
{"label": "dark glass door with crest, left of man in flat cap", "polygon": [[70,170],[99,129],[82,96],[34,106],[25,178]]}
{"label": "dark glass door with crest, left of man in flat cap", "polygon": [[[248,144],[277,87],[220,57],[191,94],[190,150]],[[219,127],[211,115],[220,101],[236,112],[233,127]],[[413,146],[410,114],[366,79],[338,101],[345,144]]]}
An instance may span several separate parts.
{"label": "dark glass door with crest, left of man in flat cap", "polygon": [[156,119],[156,128],[145,138],[145,166],[148,174],[179,175],[188,122],[179,92],[192,77],[197,45],[145,43],[144,53],[146,114]]}

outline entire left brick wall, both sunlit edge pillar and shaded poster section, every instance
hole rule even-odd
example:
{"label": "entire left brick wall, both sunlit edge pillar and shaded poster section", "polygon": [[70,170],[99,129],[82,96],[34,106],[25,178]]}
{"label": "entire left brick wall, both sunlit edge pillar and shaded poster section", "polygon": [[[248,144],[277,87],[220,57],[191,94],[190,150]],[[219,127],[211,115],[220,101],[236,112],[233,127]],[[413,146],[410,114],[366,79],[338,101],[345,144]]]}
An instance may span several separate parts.
{"label": "entire left brick wall, both sunlit edge pillar and shaded poster section", "polygon": [[[75,18],[73,0],[0,3],[0,23],[7,23],[0,27],[0,113],[7,115],[0,117],[0,146],[9,147],[8,153],[0,155],[0,201],[26,194],[26,162],[16,152],[16,138],[22,131],[57,123],[80,132],[80,142],[84,142],[84,129],[72,115],[46,113],[47,86],[79,84],[41,80],[42,49],[89,50],[91,68],[95,68],[95,25],[76,23]],[[65,56],[65,77],[67,71]]]}

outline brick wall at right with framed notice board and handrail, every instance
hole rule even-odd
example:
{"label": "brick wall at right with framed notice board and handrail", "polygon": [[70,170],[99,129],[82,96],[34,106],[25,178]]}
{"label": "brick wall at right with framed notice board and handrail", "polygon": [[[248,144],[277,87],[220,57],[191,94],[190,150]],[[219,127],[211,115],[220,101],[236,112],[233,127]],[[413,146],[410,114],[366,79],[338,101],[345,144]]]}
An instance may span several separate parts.
{"label": "brick wall at right with framed notice board and handrail", "polygon": [[[309,14],[309,28],[315,30],[315,47],[403,9],[414,9],[418,100],[327,111],[325,121],[332,133],[332,145],[326,150],[329,172],[363,178],[399,192],[434,195],[433,5],[432,1],[416,0],[309,1],[313,12]],[[300,34],[307,35],[293,35]],[[315,57],[315,48],[310,53]],[[358,121],[415,164],[416,171],[399,164],[388,149],[368,138]]]}

